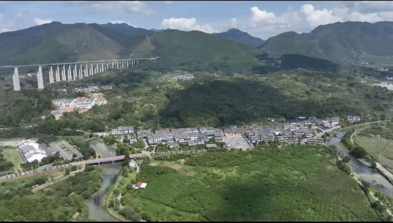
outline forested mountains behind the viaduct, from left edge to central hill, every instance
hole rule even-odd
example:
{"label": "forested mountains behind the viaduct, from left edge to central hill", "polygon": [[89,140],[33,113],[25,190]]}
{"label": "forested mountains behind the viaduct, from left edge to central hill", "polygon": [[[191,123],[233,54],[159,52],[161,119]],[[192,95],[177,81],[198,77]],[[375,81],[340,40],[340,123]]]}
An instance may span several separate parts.
{"label": "forested mountains behind the viaduct, from left edge to central hill", "polygon": [[200,31],[149,31],[127,24],[51,22],[0,34],[0,66],[161,57],[152,69],[233,75],[259,64],[255,49]]}

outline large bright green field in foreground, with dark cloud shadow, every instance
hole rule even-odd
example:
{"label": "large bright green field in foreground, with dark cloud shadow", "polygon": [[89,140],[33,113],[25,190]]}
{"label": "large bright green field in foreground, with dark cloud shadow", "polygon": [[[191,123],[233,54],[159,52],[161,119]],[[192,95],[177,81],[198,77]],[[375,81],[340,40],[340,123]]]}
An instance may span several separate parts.
{"label": "large bright green field in foreground, with dark cloud shadow", "polygon": [[380,220],[324,147],[157,158],[121,198],[147,221]]}

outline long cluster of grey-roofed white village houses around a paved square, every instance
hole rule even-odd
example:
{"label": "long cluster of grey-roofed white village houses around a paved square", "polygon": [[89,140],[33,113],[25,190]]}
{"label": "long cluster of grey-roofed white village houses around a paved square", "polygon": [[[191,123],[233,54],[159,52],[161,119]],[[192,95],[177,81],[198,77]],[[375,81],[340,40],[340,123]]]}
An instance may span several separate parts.
{"label": "long cluster of grey-roofed white village houses around a paved square", "polygon": [[[359,122],[359,116],[347,115],[346,122]],[[190,128],[173,128],[143,130],[138,129],[134,133],[134,126],[118,126],[112,129],[112,135],[127,135],[130,143],[136,143],[142,138],[148,146],[163,144],[169,148],[176,148],[182,145],[217,147],[211,145],[212,139],[215,142],[225,143],[226,148],[237,148],[246,150],[259,143],[268,143],[277,141],[281,144],[290,143],[308,143],[313,145],[324,144],[322,138],[325,132],[330,132],[340,126],[339,117],[330,117],[318,119],[316,117],[299,117],[296,120],[285,122],[285,119],[270,119],[266,125],[251,124],[249,126],[226,126],[215,128],[190,127]],[[210,142],[210,143],[209,143]]]}

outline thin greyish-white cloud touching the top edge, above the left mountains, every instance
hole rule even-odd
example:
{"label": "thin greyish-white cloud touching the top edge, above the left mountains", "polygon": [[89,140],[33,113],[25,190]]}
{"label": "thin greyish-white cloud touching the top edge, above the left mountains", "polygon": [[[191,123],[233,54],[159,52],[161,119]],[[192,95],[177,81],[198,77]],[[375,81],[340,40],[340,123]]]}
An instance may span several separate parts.
{"label": "thin greyish-white cloud touching the top edge, above the left mountains", "polygon": [[96,13],[143,13],[152,15],[154,11],[143,1],[71,1],[71,4],[83,5]]}

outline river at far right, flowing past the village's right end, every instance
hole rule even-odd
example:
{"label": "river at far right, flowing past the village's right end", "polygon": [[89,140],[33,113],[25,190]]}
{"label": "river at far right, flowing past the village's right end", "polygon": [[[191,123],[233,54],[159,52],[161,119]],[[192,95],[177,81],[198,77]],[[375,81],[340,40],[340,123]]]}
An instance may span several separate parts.
{"label": "river at far right, flowing past the village's right end", "polygon": [[340,144],[344,132],[337,132],[331,139],[327,142],[327,146],[334,145],[337,147],[338,151],[341,151],[344,156],[349,157],[349,165],[352,166],[354,172],[358,174],[358,177],[375,188],[384,192],[386,195],[393,197],[393,185],[378,171],[369,168],[360,162],[357,158],[353,157],[347,152],[347,150]]}

